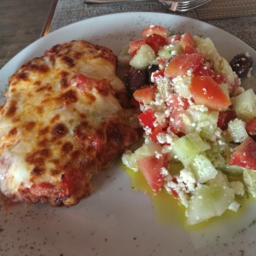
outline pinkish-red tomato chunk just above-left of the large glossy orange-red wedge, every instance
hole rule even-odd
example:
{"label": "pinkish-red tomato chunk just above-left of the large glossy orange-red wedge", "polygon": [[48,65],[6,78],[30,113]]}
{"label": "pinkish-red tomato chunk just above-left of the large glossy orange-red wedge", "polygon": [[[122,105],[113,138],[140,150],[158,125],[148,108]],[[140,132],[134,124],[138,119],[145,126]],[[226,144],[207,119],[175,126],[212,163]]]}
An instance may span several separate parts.
{"label": "pinkish-red tomato chunk just above-left of the large glossy orange-red wedge", "polygon": [[191,55],[176,55],[173,56],[165,70],[167,78],[175,78],[177,76],[184,76],[188,70],[193,73],[195,69],[203,61],[203,54],[195,53]]}

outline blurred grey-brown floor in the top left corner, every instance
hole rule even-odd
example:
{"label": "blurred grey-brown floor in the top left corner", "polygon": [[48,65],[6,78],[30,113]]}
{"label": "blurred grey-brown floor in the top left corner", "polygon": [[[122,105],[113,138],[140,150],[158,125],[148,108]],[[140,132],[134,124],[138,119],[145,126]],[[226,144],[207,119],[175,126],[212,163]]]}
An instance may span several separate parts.
{"label": "blurred grey-brown floor in the top left corner", "polygon": [[52,0],[0,0],[0,68],[37,40]]}

